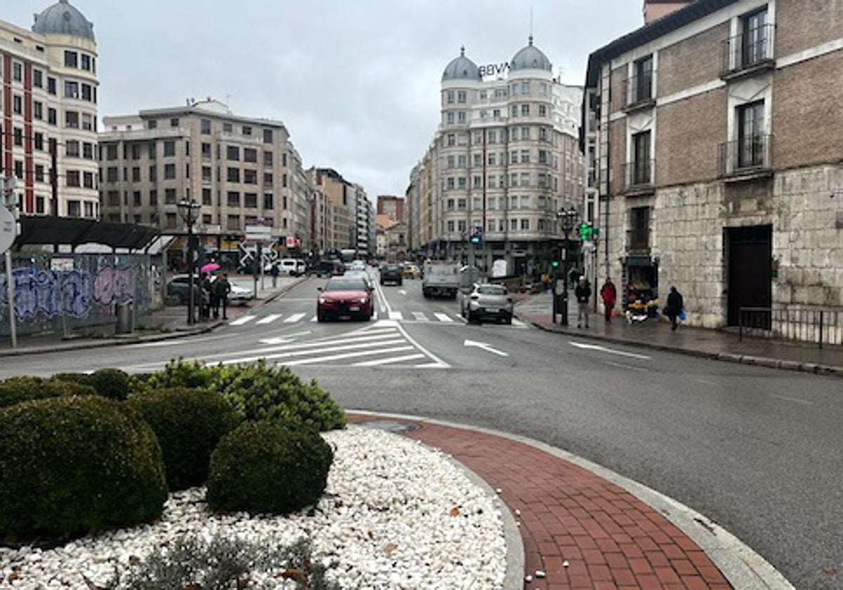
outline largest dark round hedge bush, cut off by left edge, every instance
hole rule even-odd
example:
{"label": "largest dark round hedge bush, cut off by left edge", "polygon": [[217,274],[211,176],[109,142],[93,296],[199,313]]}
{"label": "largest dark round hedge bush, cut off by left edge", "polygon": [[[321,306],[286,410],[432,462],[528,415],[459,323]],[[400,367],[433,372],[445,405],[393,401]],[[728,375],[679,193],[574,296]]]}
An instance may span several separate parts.
{"label": "largest dark round hedge bush, cut off by left edge", "polygon": [[0,410],[0,541],[148,523],[166,499],[158,440],[120,402],[86,395]]}

